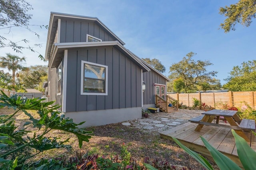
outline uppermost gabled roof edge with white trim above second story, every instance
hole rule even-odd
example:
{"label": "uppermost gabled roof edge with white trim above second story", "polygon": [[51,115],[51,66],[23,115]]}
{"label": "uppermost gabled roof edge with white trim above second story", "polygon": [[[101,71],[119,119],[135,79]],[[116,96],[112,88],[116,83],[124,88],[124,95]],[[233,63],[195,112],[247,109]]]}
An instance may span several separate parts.
{"label": "uppermost gabled roof edge with white trim above second story", "polygon": [[113,37],[115,37],[116,40],[118,40],[122,45],[125,45],[125,43],[118,36],[116,36],[116,34],[114,34],[106,25],[104,25],[104,23],[102,23],[102,21],[100,21],[96,17],[51,12],[48,36],[47,36],[47,44],[46,44],[46,53],[45,53],[46,60],[49,59],[50,57],[50,52],[51,52],[52,44],[54,42],[54,37],[55,37],[55,31],[58,27],[58,19],[61,19],[61,18],[74,18],[74,19],[94,21],[95,23],[98,23],[98,25],[100,25],[102,29],[109,32]]}

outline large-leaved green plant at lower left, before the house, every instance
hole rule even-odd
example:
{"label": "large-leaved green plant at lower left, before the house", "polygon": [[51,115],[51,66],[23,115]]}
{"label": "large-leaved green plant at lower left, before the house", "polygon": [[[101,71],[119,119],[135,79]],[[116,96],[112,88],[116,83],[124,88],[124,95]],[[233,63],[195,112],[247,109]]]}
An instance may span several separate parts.
{"label": "large-leaved green plant at lower left, before the house", "polygon": [[[85,131],[84,129],[78,129],[78,125],[72,119],[66,118],[63,114],[57,111],[59,106],[51,106],[53,102],[42,102],[44,99],[24,99],[20,96],[14,95],[8,97],[4,92],[0,94],[0,108],[8,107],[14,109],[14,113],[11,115],[4,115],[0,117],[0,166],[10,165],[11,160],[14,157],[17,159],[18,166],[28,158],[43,152],[44,150],[56,149],[60,147],[69,148],[69,145],[64,145],[69,139],[61,141],[56,137],[45,137],[47,133],[53,129],[66,131],[73,133],[78,138],[79,147],[82,147],[82,142],[88,142],[91,138],[92,132]],[[38,119],[32,114],[28,113],[28,110],[36,110]],[[14,124],[14,116],[22,111],[29,117],[29,121],[24,124],[24,127],[19,127]],[[38,129],[33,135],[26,130],[28,125],[33,125],[34,128]],[[32,137],[31,137],[32,136]],[[26,152],[21,154],[22,150],[30,148],[30,150],[37,150],[36,153],[32,154]],[[20,164],[20,165],[19,165]]]}

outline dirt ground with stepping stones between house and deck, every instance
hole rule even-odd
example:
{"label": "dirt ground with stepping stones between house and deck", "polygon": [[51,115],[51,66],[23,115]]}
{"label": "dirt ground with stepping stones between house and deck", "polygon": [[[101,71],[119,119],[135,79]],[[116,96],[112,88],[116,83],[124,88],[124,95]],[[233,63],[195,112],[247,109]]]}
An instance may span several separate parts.
{"label": "dirt ground with stepping stones between house and deck", "polygon": [[[10,109],[0,109],[0,112],[1,114],[12,113]],[[79,149],[77,138],[74,135],[54,130],[51,131],[48,136],[59,137],[63,141],[70,137],[69,143],[67,144],[71,145],[73,149],[48,150],[42,154],[38,154],[33,160],[60,156],[70,157],[74,156],[76,151],[90,152],[91,154],[95,153],[99,155],[115,155],[120,154],[121,146],[124,143],[128,147],[132,158],[138,162],[143,162],[146,157],[149,157],[152,160],[168,161],[173,165],[202,170],[204,167],[180,149],[176,143],[161,139],[159,135],[159,132],[186,123],[188,119],[196,117],[201,113],[202,110],[179,109],[179,111],[174,113],[151,113],[148,118],[134,119],[125,123],[89,127],[87,130],[93,131],[94,136],[88,143],[83,143],[82,149]],[[19,126],[22,126],[28,121],[28,117],[22,112],[19,112],[15,118]],[[160,121],[161,123],[154,123],[153,121]],[[174,126],[168,125],[168,123],[172,122],[176,122],[177,124]],[[123,125],[126,123],[130,123],[130,125]],[[159,124],[161,124],[161,127],[158,127],[160,126]],[[35,131],[32,127],[30,127],[29,130],[32,132]],[[214,164],[212,164],[212,166],[217,168]]]}

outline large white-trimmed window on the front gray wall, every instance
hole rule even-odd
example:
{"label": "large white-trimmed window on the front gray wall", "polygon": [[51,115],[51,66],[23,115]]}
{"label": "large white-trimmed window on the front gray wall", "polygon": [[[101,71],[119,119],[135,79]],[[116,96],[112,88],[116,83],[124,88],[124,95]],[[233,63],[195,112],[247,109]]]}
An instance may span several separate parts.
{"label": "large white-trimmed window on the front gray wall", "polygon": [[81,61],[81,95],[108,95],[108,66]]}

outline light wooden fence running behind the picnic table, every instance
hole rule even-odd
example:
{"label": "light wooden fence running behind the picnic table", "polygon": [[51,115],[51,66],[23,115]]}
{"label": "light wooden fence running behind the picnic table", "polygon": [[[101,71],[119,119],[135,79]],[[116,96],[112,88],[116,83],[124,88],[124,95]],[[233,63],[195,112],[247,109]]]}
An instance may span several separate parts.
{"label": "light wooden fence running behind the picnic table", "polygon": [[220,103],[227,104],[229,107],[241,107],[246,102],[253,109],[256,109],[256,92],[216,92],[216,93],[186,93],[186,94],[168,94],[170,97],[192,107],[193,98],[200,100],[209,107],[218,107]]}

